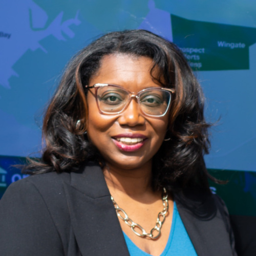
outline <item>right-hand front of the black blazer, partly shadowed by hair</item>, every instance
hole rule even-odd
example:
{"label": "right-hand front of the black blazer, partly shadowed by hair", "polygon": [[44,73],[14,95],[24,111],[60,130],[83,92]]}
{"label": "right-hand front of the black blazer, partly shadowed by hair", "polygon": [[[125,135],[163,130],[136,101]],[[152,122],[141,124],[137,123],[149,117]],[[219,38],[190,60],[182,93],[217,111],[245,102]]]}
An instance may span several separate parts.
{"label": "right-hand front of the black blazer, partly shadowed by hair", "polygon": [[[233,255],[229,233],[213,196],[196,200],[176,195],[180,217],[199,256]],[[198,198],[200,200],[198,200]]]}

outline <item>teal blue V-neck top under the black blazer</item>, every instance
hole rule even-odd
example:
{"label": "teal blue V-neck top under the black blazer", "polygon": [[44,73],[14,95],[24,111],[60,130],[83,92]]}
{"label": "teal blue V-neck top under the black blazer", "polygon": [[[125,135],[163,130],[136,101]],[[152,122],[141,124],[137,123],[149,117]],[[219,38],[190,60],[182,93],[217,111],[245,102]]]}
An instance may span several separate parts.
{"label": "teal blue V-neck top under the black blazer", "polygon": [[[150,256],[137,247],[123,232],[131,256]],[[188,237],[187,231],[180,218],[176,203],[174,203],[173,222],[167,244],[160,256],[197,256],[195,248]]]}

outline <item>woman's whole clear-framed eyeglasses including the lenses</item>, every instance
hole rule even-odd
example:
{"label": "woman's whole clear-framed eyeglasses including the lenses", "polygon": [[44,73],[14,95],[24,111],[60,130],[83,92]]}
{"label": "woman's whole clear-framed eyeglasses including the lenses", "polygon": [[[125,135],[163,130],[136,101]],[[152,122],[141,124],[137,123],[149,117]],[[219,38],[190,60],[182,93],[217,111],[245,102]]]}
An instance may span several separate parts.
{"label": "woman's whole clear-framed eyeglasses including the lenses", "polygon": [[151,87],[134,94],[120,86],[107,83],[96,83],[86,88],[95,88],[98,109],[106,115],[120,114],[135,97],[144,115],[161,117],[167,113],[172,93],[175,92],[174,89]]}

